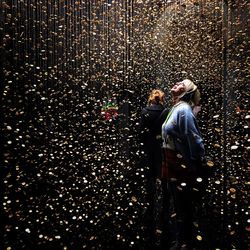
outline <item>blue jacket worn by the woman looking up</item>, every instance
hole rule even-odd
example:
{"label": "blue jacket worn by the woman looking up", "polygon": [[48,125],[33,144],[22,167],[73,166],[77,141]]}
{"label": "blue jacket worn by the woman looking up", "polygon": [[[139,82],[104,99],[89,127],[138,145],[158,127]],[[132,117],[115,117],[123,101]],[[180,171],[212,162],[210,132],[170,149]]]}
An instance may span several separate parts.
{"label": "blue jacket worn by the woman looking up", "polygon": [[181,153],[186,163],[192,168],[194,161],[201,160],[205,155],[203,139],[191,106],[180,101],[170,110],[162,125],[164,147]]}

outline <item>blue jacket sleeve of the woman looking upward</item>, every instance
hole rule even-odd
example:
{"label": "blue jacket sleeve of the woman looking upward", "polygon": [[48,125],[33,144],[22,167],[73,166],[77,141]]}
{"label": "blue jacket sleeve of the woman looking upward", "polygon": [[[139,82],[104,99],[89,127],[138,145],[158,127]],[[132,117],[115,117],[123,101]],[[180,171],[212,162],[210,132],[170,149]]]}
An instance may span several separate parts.
{"label": "blue jacket sleeve of the woman looking upward", "polygon": [[192,160],[201,159],[205,155],[203,139],[201,137],[196,118],[190,107],[181,110],[178,125],[183,142],[189,148]]}

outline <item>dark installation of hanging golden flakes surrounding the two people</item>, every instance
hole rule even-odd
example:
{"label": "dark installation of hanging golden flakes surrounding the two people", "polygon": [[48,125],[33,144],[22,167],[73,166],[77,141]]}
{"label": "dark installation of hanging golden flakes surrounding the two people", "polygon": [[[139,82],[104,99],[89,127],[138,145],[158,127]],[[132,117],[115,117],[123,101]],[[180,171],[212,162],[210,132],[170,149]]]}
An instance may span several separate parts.
{"label": "dark installation of hanging golden flakes surrounding the two people", "polygon": [[200,249],[247,249],[249,11],[244,0],[1,1],[1,249],[147,249],[141,109],[154,88],[169,104],[185,78],[202,93],[211,168]]}

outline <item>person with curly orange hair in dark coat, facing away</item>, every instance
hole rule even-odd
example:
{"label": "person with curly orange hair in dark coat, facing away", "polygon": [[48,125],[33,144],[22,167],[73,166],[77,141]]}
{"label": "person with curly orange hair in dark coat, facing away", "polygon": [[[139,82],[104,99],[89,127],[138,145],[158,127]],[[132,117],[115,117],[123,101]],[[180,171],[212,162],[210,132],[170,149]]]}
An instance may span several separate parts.
{"label": "person with curly orange hair in dark coat, facing away", "polygon": [[161,90],[153,90],[148,98],[148,105],[142,109],[140,120],[140,140],[144,152],[143,166],[146,172],[146,203],[144,218],[148,249],[153,249],[155,241],[154,201],[156,178],[161,175],[161,126],[168,110],[164,109],[165,94]]}

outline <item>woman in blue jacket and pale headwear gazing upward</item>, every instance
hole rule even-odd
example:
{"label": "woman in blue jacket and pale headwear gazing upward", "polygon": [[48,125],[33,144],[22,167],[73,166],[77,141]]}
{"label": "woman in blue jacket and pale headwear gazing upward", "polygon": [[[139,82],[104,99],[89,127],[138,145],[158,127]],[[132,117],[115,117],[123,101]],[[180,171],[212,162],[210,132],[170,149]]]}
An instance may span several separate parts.
{"label": "woman in blue jacket and pale headwear gazing upward", "polygon": [[171,249],[192,249],[194,203],[198,201],[202,182],[204,144],[193,113],[200,101],[197,86],[185,79],[176,83],[171,93],[174,105],[162,125],[164,164],[162,178],[174,202],[176,244]]}

